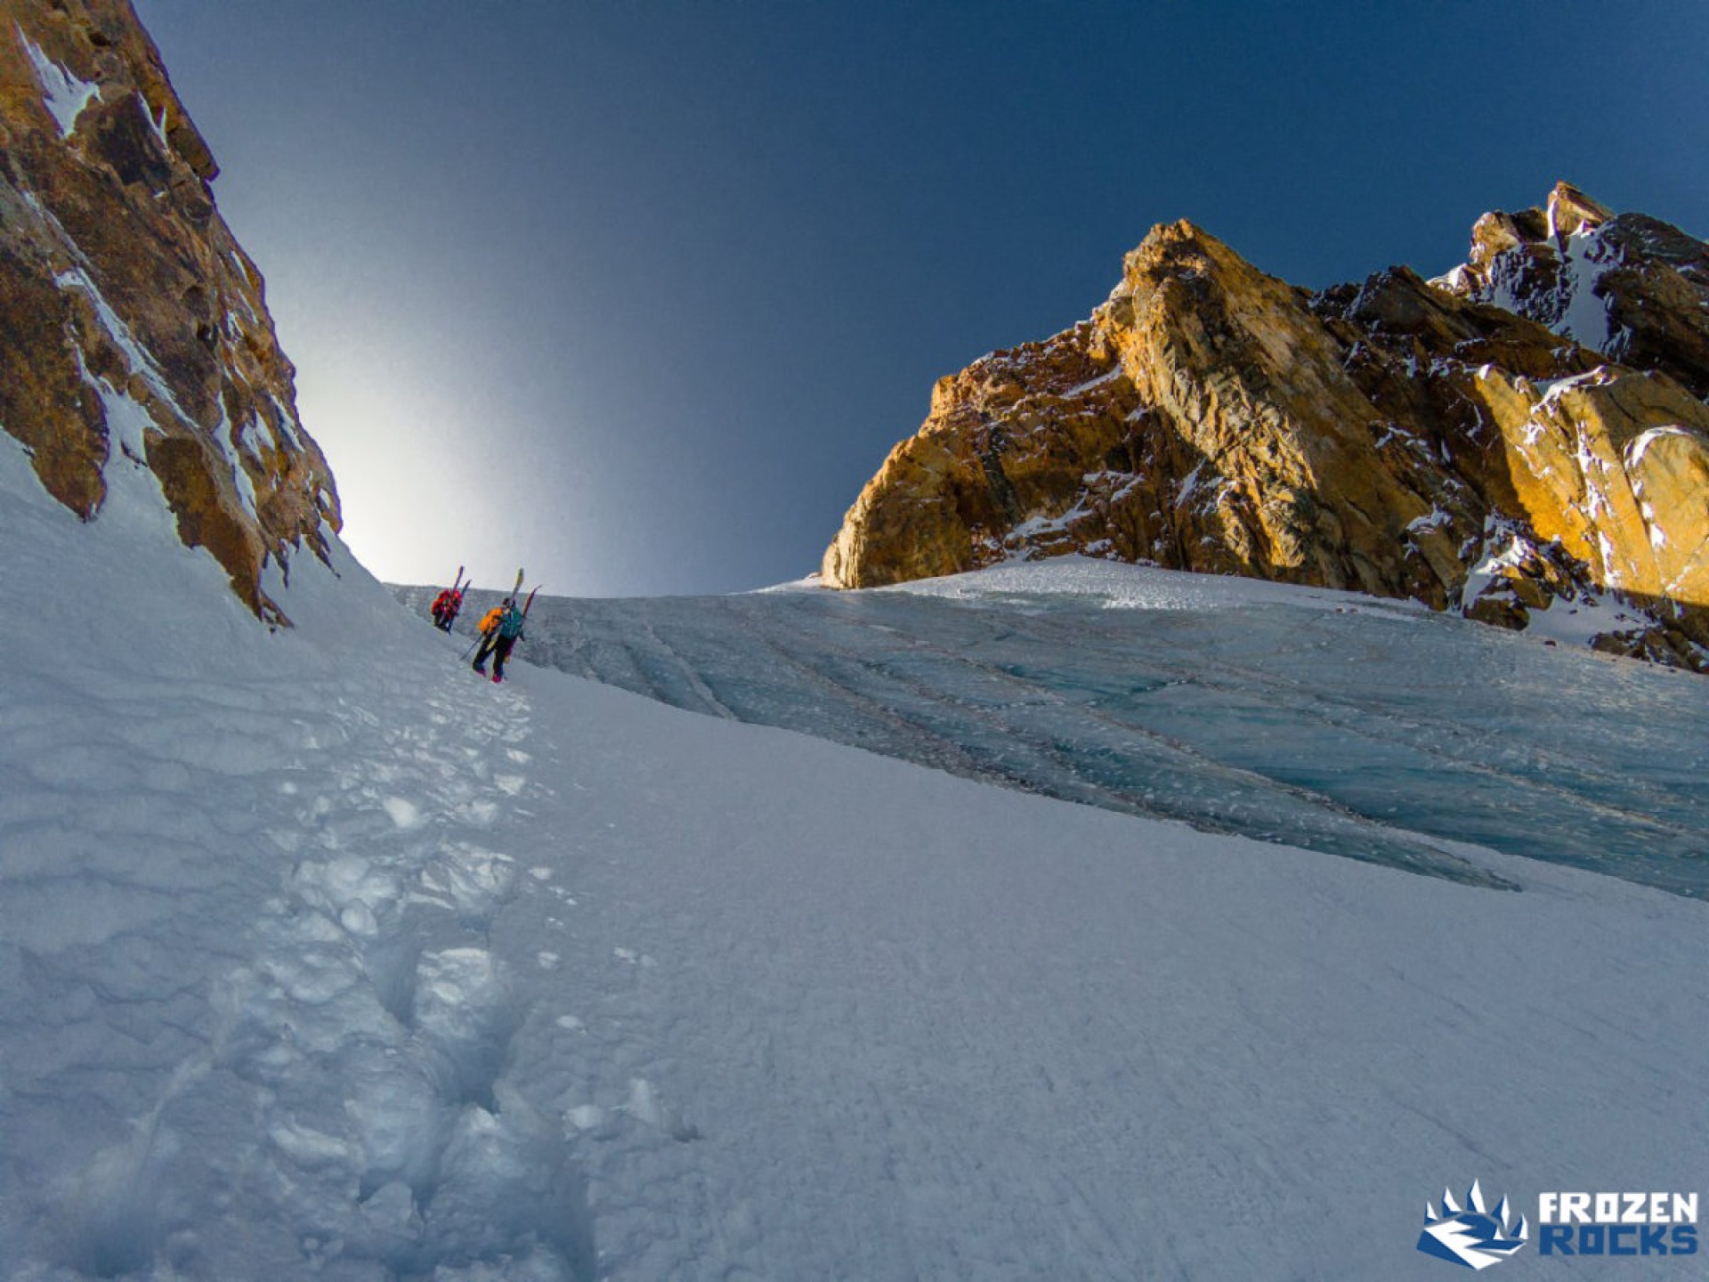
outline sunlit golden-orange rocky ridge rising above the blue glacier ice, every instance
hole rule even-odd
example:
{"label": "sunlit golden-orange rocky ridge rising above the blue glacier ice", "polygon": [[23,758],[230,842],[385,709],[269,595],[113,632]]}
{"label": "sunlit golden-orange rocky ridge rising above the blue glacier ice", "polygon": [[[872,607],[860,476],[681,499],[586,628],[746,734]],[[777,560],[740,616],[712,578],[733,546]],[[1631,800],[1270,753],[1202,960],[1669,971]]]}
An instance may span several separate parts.
{"label": "sunlit golden-orange rocky ridge rising above the blue glacier ice", "polygon": [[1090,320],[937,385],[824,581],[1078,552],[1511,627],[1559,610],[1706,667],[1709,246],[1565,185],[1475,234],[1439,282],[1314,296],[1154,229]]}

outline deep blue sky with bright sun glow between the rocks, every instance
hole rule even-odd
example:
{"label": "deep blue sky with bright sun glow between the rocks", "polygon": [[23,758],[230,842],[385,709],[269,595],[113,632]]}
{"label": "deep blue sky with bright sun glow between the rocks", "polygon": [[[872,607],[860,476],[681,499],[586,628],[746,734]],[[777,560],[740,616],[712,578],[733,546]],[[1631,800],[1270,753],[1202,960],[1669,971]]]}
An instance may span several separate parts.
{"label": "deep blue sky with bright sun glow between the rocks", "polygon": [[1709,5],[135,0],[381,578],[815,569],[1188,217],[1321,287],[1565,178],[1709,234]]}

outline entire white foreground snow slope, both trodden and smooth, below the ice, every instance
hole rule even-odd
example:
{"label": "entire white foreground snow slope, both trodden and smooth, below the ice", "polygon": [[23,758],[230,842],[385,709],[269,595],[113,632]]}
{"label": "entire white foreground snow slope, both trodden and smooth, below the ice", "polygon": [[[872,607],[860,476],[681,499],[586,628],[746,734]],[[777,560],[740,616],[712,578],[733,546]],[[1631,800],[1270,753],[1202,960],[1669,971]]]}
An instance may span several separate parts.
{"label": "entire white foreground snow slope, both trodden and smooth, below the ice", "polygon": [[0,1275],[1429,1279],[1702,1176],[1700,903],[496,689],[342,554],[268,636],[149,485],[0,448]]}

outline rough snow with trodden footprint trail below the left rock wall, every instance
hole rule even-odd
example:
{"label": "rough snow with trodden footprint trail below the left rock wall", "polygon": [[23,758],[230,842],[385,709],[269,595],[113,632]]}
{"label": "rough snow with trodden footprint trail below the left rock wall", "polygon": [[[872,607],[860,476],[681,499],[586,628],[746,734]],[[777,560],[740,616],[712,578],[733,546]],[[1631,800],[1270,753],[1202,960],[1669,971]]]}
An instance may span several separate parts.
{"label": "rough snow with trodden footprint trail below the left rock wall", "polygon": [[526,711],[337,542],[270,634],[108,473],[84,525],[0,443],[0,1272],[591,1277],[484,942]]}

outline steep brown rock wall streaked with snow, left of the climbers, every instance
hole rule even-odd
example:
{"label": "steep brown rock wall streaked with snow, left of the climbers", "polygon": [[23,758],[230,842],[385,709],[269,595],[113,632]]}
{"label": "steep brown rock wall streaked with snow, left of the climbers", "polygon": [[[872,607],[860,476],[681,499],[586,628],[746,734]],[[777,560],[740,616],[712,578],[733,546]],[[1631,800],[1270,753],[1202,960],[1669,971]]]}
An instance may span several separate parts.
{"label": "steep brown rock wall streaked with snow, left of the climbers", "polygon": [[338,499],[214,157],[126,0],[0,19],[0,427],[85,520],[111,468],[149,468],[183,540],[289,622],[265,585],[326,557]]}

